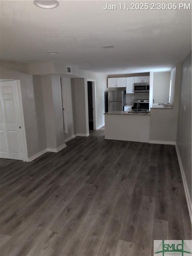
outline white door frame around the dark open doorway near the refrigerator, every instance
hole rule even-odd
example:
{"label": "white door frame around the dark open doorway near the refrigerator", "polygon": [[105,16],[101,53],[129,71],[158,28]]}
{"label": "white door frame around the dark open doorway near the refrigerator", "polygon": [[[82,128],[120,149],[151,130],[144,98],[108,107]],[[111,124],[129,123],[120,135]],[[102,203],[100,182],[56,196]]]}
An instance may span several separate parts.
{"label": "white door frame around the dark open doorway near the refrigerator", "polygon": [[96,80],[95,79],[86,79],[85,86],[85,115],[86,115],[86,132],[89,134],[89,112],[88,112],[88,91],[87,91],[87,82],[92,82],[92,98],[93,98],[93,130],[97,130],[97,109],[96,109]]}

